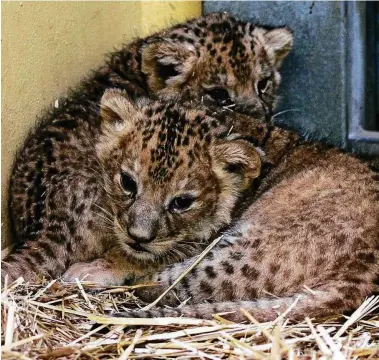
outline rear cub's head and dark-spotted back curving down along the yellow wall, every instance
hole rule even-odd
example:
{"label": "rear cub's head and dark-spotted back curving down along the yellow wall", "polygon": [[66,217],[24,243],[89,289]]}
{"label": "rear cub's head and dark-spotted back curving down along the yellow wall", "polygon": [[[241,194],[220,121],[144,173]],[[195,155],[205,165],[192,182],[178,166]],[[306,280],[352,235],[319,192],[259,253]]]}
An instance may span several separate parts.
{"label": "rear cub's head and dark-spotted back curving down along the yellow wall", "polygon": [[[15,273],[41,264],[48,269],[56,266],[54,273],[59,274],[72,261],[104,252],[93,240],[92,233],[99,231],[96,222],[88,220],[83,227],[83,214],[94,211],[93,202],[100,196],[93,148],[105,89],[123,89],[131,99],[203,100],[218,110],[236,102],[256,116],[269,116],[280,80],[278,69],[291,46],[292,35],[285,28],[269,30],[227,14],[209,14],[110,54],[103,66],[60,99],[57,108],[46,112],[17,154],[9,194],[15,254],[7,261],[19,258],[19,253],[29,255]],[[226,100],[218,98],[222,90]],[[55,260],[61,246],[73,238],[65,255]],[[43,251],[37,240],[44,244]]]}

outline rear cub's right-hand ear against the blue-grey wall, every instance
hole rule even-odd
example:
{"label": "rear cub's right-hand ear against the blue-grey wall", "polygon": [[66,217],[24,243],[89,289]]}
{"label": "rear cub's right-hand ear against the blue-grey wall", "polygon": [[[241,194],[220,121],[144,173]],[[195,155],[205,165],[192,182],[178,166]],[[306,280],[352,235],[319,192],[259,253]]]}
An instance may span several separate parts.
{"label": "rear cub's right-hand ear against the blue-grey wall", "polygon": [[263,35],[266,52],[274,65],[279,67],[293,46],[293,35],[287,28],[266,31]]}

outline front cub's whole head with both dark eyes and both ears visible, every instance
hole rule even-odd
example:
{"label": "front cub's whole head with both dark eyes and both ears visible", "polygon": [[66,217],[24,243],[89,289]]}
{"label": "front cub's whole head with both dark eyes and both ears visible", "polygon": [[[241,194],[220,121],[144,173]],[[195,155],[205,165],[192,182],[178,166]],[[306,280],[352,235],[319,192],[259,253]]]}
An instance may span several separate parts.
{"label": "front cub's whole head with both dark eyes and both ears visible", "polygon": [[101,100],[108,225],[140,259],[179,260],[231,221],[259,176],[259,153],[202,110],[131,103],[116,90]]}

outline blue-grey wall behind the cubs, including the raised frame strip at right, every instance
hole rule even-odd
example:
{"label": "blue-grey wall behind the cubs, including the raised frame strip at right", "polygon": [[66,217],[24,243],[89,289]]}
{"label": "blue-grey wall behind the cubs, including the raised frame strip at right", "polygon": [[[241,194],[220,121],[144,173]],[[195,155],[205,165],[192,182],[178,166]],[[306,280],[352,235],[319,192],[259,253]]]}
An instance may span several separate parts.
{"label": "blue-grey wall behind the cubs, including the raised frame strip at right", "polygon": [[375,96],[363,60],[365,17],[372,15],[364,2],[207,1],[203,8],[204,13],[227,11],[293,30],[294,49],[282,67],[277,123],[348,150],[379,154],[379,132],[363,128],[370,121],[367,104]]}

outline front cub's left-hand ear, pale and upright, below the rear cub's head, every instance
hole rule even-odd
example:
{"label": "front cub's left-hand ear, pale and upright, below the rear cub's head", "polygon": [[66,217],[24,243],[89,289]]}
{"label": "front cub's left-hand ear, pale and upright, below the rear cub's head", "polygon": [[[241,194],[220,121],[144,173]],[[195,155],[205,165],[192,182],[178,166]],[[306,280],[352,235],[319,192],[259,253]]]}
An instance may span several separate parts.
{"label": "front cub's left-hand ear, pale and upright, below the rear cub's head", "polygon": [[119,89],[106,90],[100,102],[102,126],[108,130],[127,130],[139,118],[139,111],[127,94]]}

